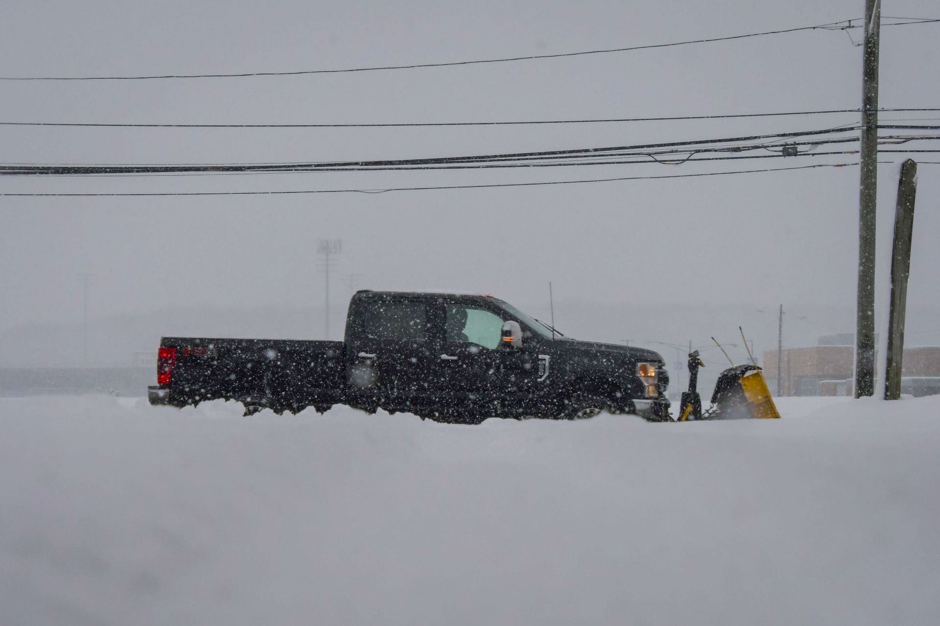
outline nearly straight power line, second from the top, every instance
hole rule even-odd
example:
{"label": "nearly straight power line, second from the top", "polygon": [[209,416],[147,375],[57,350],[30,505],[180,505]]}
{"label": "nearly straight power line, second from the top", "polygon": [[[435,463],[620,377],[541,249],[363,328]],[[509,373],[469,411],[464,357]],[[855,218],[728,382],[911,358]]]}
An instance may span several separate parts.
{"label": "nearly straight power line, second from the top", "polygon": [[[879,109],[882,112],[910,113],[918,111],[936,112],[940,108],[893,108]],[[148,123],[98,123],[98,122],[0,122],[0,126],[68,126],[79,128],[403,128],[426,126],[509,126],[528,124],[604,124],[611,122],[679,121],[683,119],[729,119],[742,117],[787,117],[811,116],[835,113],[860,113],[859,109],[826,109],[821,111],[789,111],[784,113],[742,113],[710,116],[674,117],[608,117],[596,119],[540,119],[492,122],[400,122],[400,123],[352,123],[352,124],[148,124]]]}

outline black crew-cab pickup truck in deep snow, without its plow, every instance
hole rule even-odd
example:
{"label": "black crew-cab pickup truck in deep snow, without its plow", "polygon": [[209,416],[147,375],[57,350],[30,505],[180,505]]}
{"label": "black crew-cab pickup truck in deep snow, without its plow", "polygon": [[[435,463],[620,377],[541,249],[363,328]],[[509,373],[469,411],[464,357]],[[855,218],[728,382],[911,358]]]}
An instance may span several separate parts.
{"label": "black crew-cab pickup truck in deep snow, without its plow", "polygon": [[658,353],[563,336],[488,295],[357,291],[345,341],[163,337],[157,383],[152,404],[235,399],[246,414],[346,404],[464,424],[669,419]]}

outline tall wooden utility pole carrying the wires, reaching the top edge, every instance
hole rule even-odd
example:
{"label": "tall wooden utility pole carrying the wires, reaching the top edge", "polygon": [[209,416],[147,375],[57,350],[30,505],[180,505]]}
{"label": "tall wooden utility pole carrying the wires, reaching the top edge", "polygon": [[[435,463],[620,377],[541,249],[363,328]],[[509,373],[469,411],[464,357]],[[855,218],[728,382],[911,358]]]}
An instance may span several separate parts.
{"label": "tall wooden utility pole carrying the wires, reaching the top edge", "polygon": [[864,28],[855,398],[871,396],[875,386],[875,213],[878,193],[878,37],[881,31],[881,0],[865,0]]}

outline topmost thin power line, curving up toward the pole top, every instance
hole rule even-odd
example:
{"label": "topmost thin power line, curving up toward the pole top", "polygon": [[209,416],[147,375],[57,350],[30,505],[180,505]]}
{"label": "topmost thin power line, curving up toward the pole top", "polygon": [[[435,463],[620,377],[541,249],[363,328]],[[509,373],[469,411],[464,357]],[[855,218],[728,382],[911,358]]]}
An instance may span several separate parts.
{"label": "topmost thin power line, curving up toward the pole top", "polygon": [[[760,33],[747,33],[745,35],[731,35],[728,37],[714,37],[709,39],[690,39],[687,41],[674,41],[671,43],[655,43],[642,46],[630,46],[626,48],[607,48],[602,50],[586,50],[573,53],[559,53],[555,55],[525,55],[508,56],[504,58],[478,59],[471,61],[448,61],[443,63],[415,63],[411,65],[387,65],[369,68],[349,68],[344,70],[296,70],[296,71],[250,71],[239,73],[220,73],[220,74],[153,74],[146,76],[0,76],[0,80],[5,81],[111,81],[111,80],[151,80],[164,78],[243,78],[249,76],[298,76],[302,74],[332,74],[348,73],[355,71],[377,71],[377,70],[413,70],[417,68],[443,68],[460,65],[478,65],[482,63],[506,63],[509,61],[529,61],[542,58],[560,58],[564,56],[584,56],[584,55],[606,55],[610,53],[632,52],[635,50],[652,50],[656,48],[671,48],[674,46],[689,45],[694,43],[711,43],[714,41],[729,41],[732,39],[747,39],[752,37],[762,37],[766,35],[781,35],[784,33],[795,33],[805,30],[849,30],[860,28],[859,25],[852,24],[854,20],[842,20],[841,22],[830,22],[816,24],[813,26],[799,26],[797,28],[784,28],[780,30],[768,30]],[[911,25],[915,23],[940,22],[940,19],[924,19],[917,22],[887,23],[885,26]]]}

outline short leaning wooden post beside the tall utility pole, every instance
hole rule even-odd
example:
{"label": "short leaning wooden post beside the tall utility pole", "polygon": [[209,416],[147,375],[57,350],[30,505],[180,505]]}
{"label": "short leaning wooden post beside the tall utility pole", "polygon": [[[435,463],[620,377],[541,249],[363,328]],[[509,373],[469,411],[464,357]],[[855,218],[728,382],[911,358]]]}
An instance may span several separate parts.
{"label": "short leaning wooden post beside the tall utility pole", "polygon": [[917,196],[917,163],[901,164],[898,207],[894,214],[894,246],[891,250],[891,308],[888,313],[885,354],[885,399],[901,399],[901,362],[904,356],[904,313],[907,277],[911,273],[911,240],[914,236],[914,200]]}

